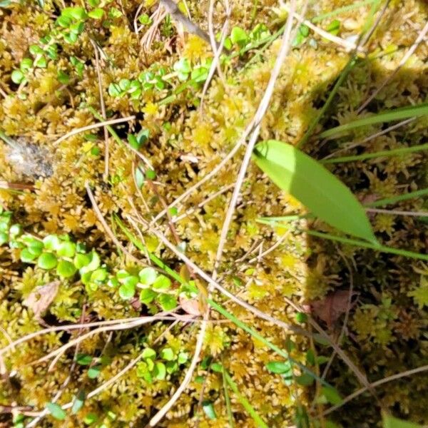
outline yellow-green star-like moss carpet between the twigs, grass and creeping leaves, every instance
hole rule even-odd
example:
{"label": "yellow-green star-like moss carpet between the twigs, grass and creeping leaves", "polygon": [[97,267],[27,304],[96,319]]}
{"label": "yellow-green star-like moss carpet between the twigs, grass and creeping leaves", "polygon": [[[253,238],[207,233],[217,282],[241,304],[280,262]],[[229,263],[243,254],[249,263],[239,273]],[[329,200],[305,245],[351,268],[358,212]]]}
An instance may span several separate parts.
{"label": "yellow-green star-like moss carpet between the twigs, grass and creeping leaves", "polygon": [[[316,16],[347,4],[347,1],[318,1],[309,6],[307,16]],[[66,6],[71,4],[67,3]],[[170,103],[160,103],[170,94],[167,90],[160,93],[144,91],[138,100],[129,96],[113,97],[108,94],[110,83],[116,83],[121,78],[137,78],[152,63],[171,67],[183,56],[192,64],[212,56],[210,47],[198,37],[186,35],[185,40],[180,39],[174,24],[172,30],[165,29],[165,24],[161,24],[159,38],[153,41],[150,49],[143,51],[140,44],[143,33],[137,35],[133,31],[133,17],[138,6],[137,1],[106,2],[103,6],[106,13],[114,7],[121,14],[111,14],[105,25],[102,21],[91,21],[76,44],[61,44],[58,59],[48,61],[46,68],[36,68],[29,76],[28,83],[21,87],[11,81],[12,71],[19,67],[19,61],[28,56],[29,46],[38,43],[51,31],[54,19],[63,6],[60,2],[47,2],[42,10],[33,2],[28,2],[0,9],[1,130],[12,138],[23,137],[41,146],[52,153],[54,163],[53,174],[36,180],[34,191],[16,193],[0,189],[0,203],[13,211],[16,221],[29,232],[40,236],[69,233],[89,248],[96,248],[111,268],[131,267],[135,262],[118,251],[104,233],[87,198],[85,183],[93,187],[101,212],[110,224],[113,213],[123,218],[134,215],[133,205],[148,219],[156,215],[163,209],[160,200],[172,202],[213,170],[233,148],[263,96],[280,45],[279,40],[275,41],[260,56],[252,59],[250,66],[245,64],[258,54],[257,50],[250,51],[242,58],[232,58],[224,66],[225,81],[216,77],[210,84],[203,111],[199,110],[202,86],[189,86]],[[274,11],[275,6],[274,1],[258,1],[255,14],[255,24],[265,23],[272,33],[281,25]],[[188,1],[188,7],[193,20],[206,29],[208,1]],[[154,9],[156,5],[145,6],[143,11],[151,14]],[[338,15],[341,23],[339,35],[346,39],[358,34],[369,10],[370,6],[362,6]],[[252,16],[253,1],[235,1],[230,25],[250,30],[255,25],[251,23]],[[317,132],[356,117],[355,110],[394,71],[404,52],[417,38],[427,16],[427,6],[423,1],[390,2],[367,46],[371,55],[354,68],[340,88],[322,126],[317,127]],[[218,5],[216,29],[220,29],[224,18],[223,9]],[[319,25],[327,28],[333,19],[325,19]],[[310,38],[316,43],[306,41],[293,49],[287,58],[261,125],[260,139],[275,138],[293,144],[300,141],[347,62],[349,54],[343,49],[320,36],[311,34]],[[58,145],[54,144],[57,138],[69,131],[96,121],[87,106],[101,113],[96,57],[91,39],[96,41],[104,56],[101,59],[101,85],[107,116],[136,116],[126,124],[114,126],[119,136],[124,139],[128,133],[136,133],[141,128],[150,131],[141,153],[150,160],[156,171],[158,196],[153,194],[150,186],[143,186],[141,193],[137,191],[133,179],[136,158],[126,146],[118,145],[113,138],[109,138],[109,182],[103,183],[102,129],[93,131],[95,141],[87,141],[83,134],[78,134]],[[427,54],[426,44],[419,46],[364,114],[427,101]],[[69,61],[71,56],[84,64],[81,76]],[[58,70],[71,76],[69,83],[58,81]],[[173,83],[173,88],[178,84]],[[419,118],[341,154],[376,152],[423,143],[427,138],[427,123],[427,118]],[[342,148],[345,143],[363,141],[380,130],[381,125],[365,127],[352,133],[350,138],[327,143],[312,138],[305,150],[315,158],[322,158]],[[101,149],[100,155],[92,153],[93,146]],[[7,161],[8,150],[5,144],[0,147],[1,180],[11,183],[31,180]],[[179,205],[178,214],[195,208],[213,193],[233,185],[241,158],[242,152],[213,180],[191,194]],[[426,188],[426,160],[424,154],[417,153],[344,163],[331,170],[361,200],[379,199]],[[186,255],[206,272],[213,270],[230,191],[216,196],[176,224],[180,240],[186,243]],[[397,210],[422,211],[425,208],[422,198],[394,205]],[[340,346],[365,372],[370,382],[426,364],[427,266],[372,250],[346,245],[338,247],[324,240],[307,238],[304,234],[295,233],[292,228],[272,230],[255,221],[260,216],[300,211],[304,213],[304,208],[297,201],[270,183],[255,165],[250,165],[220,267],[223,285],[260,310],[285,322],[295,322],[295,310],[286,298],[305,304],[320,300],[334,290],[347,290],[352,281],[358,299],[350,311],[345,339]],[[420,218],[377,213],[372,215],[371,220],[377,237],[384,245],[427,252],[427,226]],[[331,232],[320,223],[308,226]],[[165,218],[161,220],[160,228],[171,238]],[[114,232],[128,250],[143,260],[143,255],[127,244],[118,230]],[[260,248],[267,250],[284,233],[288,235],[282,243],[257,260]],[[148,248],[179,272],[182,264],[175,255],[150,233],[143,235]],[[236,263],[238,259],[241,260]],[[8,337],[16,340],[41,328],[23,301],[34,287],[49,282],[50,278],[38,267],[23,265],[17,250],[5,247],[0,248],[0,275],[0,344],[3,347],[8,344]],[[220,295],[217,297],[221,300]],[[313,348],[312,342],[304,337],[286,335],[278,327],[255,318],[242,307],[230,302],[224,302],[224,305],[275,345],[285,348],[290,346],[289,341],[292,340],[292,356],[305,362],[305,352]],[[83,311],[86,322],[136,317],[141,313],[123,302],[116,290],[100,287],[88,293],[80,282],[65,281],[46,313],[45,321],[49,325],[78,322]],[[212,315],[214,319],[220,319],[215,312]],[[69,402],[78,389],[89,392],[113,377],[141,352],[144,344],[155,349],[168,345],[174,350],[193,355],[198,323],[175,325],[171,330],[168,326],[168,323],[156,322],[129,331],[113,332],[111,337],[102,334],[82,342],[79,352],[97,357],[106,355],[110,363],[95,380],[88,379],[85,367],[76,367],[59,402]],[[332,335],[336,335],[340,322],[330,327]],[[153,345],[159,336],[161,340]],[[14,403],[34,407],[35,411],[44,409],[68,376],[73,350],[66,352],[51,372],[47,371],[46,363],[30,363],[71,337],[76,335],[72,332],[52,333],[19,345],[14,352],[10,352],[5,362],[8,372],[14,373],[14,376],[10,384],[6,381],[2,383],[0,405]],[[316,350],[322,355],[331,354],[331,349],[327,347],[317,345]],[[213,323],[209,327],[202,357],[209,356],[215,361],[223,361],[241,394],[247,397],[268,426],[287,427],[294,424],[297,404],[310,408],[313,392],[295,384],[287,385],[280,376],[267,372],[265,364],[278,358],[232,323]],[[320,367],[321,372],[323,367]],[[184,374],[185,367],[183,372],[148,384],[138,377],[138,371],[133,368],[113,386],[88,399],[81,412],[70,415],[66,422],[46,417],[39,426],[85,426],[83,418],[89,413],[98,417],[95,426],[101,426],[101,423],[107,427],[143,426],[165,404]],[[205,380],[201,381],[201,377]],[[360,387],[355,375],[337,357],[327,374],[327,381],[335,385],[343,396]],[[427,376],[424,374],[405,377],[376,389],[384,408],[397,416],[424,423],[428,423],[427,392]],[[213,402],[217,419],[210,420],[203,414],[198,406],[200,397]],[[327,407],[322,404],[315,406],[312,416],[319,416],[324,408]],[[232,409],[237,427],[255,426],[233,394]],[[331,416],[339,426],[375,427],[379,423],[379,414],[379,405],[366,393]],[[0,415],[0,418],[6,424],[10,421],[8,415]],[[197,424],[199,427],[228,425],[223,379],[218,373],[204,370],[201,366],[196,370],[188,391],[159,426],[189,427]]]}

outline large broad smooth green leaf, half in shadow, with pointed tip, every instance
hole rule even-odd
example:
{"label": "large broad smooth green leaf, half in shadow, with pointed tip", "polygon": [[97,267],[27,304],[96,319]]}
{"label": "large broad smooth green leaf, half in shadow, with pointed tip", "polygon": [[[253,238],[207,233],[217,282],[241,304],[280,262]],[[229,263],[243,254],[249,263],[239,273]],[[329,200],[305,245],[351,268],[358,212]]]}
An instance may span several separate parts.
{"label": "large broad smooth green leaf, half in shadow, with pointed tip", "polygon": [[255,163],[325,223],[377,244],[364,208],[355,195],[315,159],[281,141],[255,147]]}

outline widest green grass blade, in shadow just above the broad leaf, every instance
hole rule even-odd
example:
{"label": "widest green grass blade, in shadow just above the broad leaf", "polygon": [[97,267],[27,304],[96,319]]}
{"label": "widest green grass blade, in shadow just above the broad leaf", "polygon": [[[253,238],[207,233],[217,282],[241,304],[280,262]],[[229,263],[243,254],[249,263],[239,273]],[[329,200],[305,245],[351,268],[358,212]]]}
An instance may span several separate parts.
{"label": "widest green grass blade, in shadow just above the broad leaf", "polygon": [[357,119],[356,121],[345,123],[345,125],[336,126],[320,133],[320,138],[338,138],[346,135],[352,129],[360,128],[361,126],[375,125],[377,123],[401,121],[407,118],[417,118],[428,114],[428,103],[419,104],[419,106],[411,106],[404,108],[396,108],[394,110],[377,113],[368,118]]}

